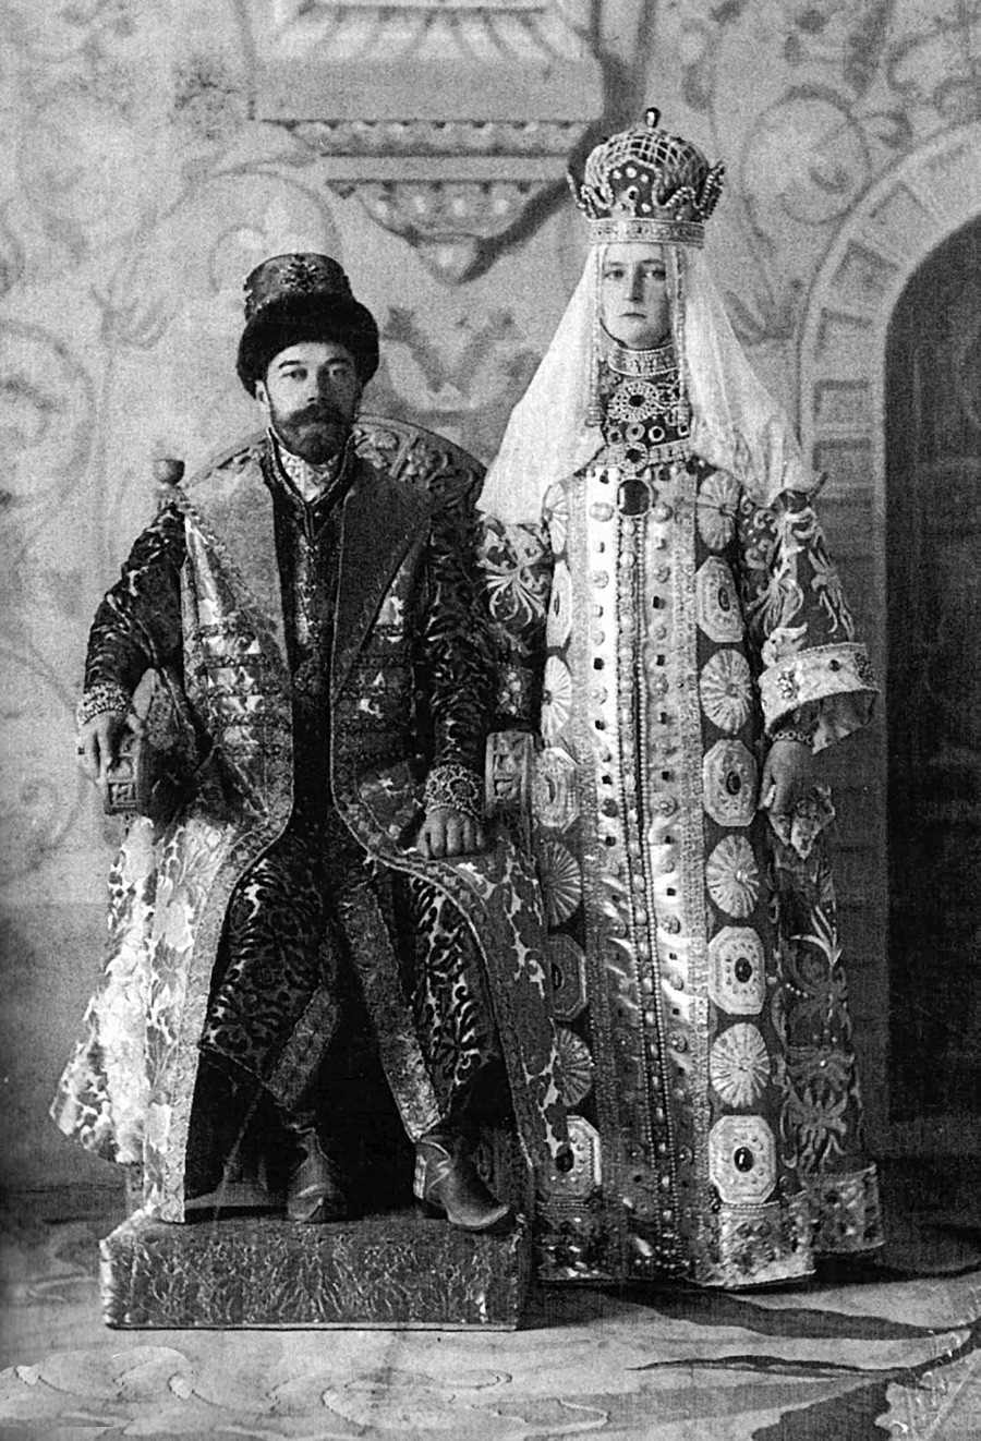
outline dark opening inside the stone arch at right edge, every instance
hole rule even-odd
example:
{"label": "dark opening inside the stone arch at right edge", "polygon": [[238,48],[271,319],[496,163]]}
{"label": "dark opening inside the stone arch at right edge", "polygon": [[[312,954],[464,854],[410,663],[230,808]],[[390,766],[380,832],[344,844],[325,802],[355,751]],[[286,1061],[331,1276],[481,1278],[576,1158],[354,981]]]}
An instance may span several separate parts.
{"label": "dark opening inside the stone arch at right edge", "polygon": [[981,1112],[981,220],[886,344],[890,1098]]}

